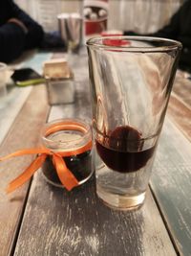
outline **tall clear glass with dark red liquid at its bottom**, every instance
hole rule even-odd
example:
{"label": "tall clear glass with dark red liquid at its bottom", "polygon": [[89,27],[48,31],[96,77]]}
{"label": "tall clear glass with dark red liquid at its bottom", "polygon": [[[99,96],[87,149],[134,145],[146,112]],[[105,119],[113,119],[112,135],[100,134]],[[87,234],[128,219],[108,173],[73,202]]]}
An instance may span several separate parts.
{"label": "tall clear glass with dark red liquid at its bottom", "polygon": [[142,205],[181,44],[140,36],[87,41],[96,145],[96,193],[107,205]]}

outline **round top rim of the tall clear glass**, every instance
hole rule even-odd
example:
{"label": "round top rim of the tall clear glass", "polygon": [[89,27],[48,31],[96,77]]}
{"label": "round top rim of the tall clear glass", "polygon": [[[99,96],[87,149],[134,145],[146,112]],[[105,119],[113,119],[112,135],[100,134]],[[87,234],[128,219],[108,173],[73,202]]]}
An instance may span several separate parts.
{"label": "round top rim of the tall clear glass", "polygon": [[[130,40],[130,41],[145,41],[145,42],[166,42],[163,46],[131,46],[128,45],[104,45],[104,40]],[[140,36],[140,35],[108,35],[108,36],[96,36],[88,39],[86,41],[86,46],[90,48],[95,48],[99,50],[120,50],[121,52],[129,53],[156,53],[156,52],[169,52],[182,48],[180,41],[168,39],[164,37],[154,37],[154,36]],[[119,52],[119,51],[118,51]]]}

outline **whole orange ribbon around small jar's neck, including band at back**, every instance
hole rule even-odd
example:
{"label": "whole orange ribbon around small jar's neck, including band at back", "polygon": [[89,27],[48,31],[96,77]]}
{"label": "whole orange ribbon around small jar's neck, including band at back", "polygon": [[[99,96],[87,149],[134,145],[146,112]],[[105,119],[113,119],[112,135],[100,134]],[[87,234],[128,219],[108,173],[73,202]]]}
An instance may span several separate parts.
{"label": "whole orange ribbon around small jar's neck, including band at back", "polygon": [[[52,125],[49,125],[45,129],[45,137],[48,135],[59,131],[59,130],[78,130],[82,133],[86,133],[88,128],[74,120],[65,120],[62,122],[58,122]],[[76,154],[83,153],[85,151],[90,151],[92,149],[92,138],[89,138],[89,141],[84,146],[72,151],[51,151],[48,148],[37,148],[37,149],[28,149],[28,150],[20,150],[15,151],[9,155],[4,157],[0,157],[0,161],[4,161],[10,159],[14,156],[21,156],[25,154],[39,154],[36,159],[32,162],[32,164],[19,176],[17,176],[14,180],[11,181],[7,188],[7,193],[11,193],[16,188],[23,185],[27,180],[29,180],[32,175],[42,166],[45,162],[48,155],[53,157],[53,165],[55,167],[56,173],[62,183],[62,185],[68,190],[72,190],[74,187],[78,186],[78,181],[73,175],[73,173],[67,168],[66,163],[63,157],[73,156]]]}

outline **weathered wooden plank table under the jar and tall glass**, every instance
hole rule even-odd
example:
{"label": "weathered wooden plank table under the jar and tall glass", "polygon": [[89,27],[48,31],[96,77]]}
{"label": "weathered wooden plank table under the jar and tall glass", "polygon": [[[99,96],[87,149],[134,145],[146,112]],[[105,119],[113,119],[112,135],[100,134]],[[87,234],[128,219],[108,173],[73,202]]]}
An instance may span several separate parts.
{"label": "weathered wooden plank table under the jar and tall glass", "polygon": [[[56,57],[55,57],[56,58]],[[39,63],[38,63],[39,64]],[[1,109],[0,155],[39,145],[49,120],[91,118],[87,57],[73,58],[75,104],[51,107],[45,84],[12,88]],[[177,76],[143,207],[114,211],[96,197],[95,177],[68,193],[39,170],[7,196],[35,155],[0,163],[0,256],[191,255],[191,81]]]}

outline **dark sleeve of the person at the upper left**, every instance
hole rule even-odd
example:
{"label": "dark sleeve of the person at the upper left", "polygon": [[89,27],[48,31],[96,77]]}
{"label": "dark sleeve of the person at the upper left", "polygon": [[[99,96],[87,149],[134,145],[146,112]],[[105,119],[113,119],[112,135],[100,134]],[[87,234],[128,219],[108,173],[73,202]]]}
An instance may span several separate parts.
{"label": "dark sleeve of the person at the upper left", "polygon": [[[9,19],[20,20],[28,33]],[[11,0],[0,0],[0,61],[10,62],[18,58],[24,50],[38,47],[43,38],[43,29]]]}

